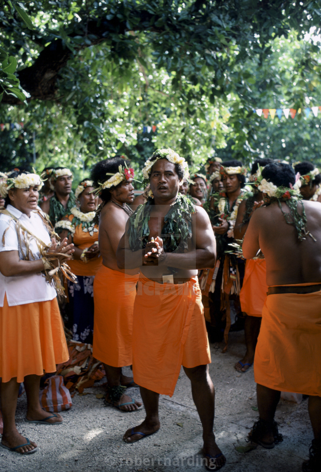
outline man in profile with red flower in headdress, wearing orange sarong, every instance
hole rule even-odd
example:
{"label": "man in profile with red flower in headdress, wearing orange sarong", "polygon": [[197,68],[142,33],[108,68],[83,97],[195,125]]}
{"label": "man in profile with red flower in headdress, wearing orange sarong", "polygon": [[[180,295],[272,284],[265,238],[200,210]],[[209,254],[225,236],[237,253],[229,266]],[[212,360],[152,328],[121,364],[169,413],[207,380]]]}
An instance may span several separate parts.
{"label": "man in profile with red flower in headdress, wearing orange sarong", "polygon": [[125,395],[126,387],[135,383],[133,378],[122,375],[121,369],[132,364],[138,270],[120,270],[116,261],[117,246],[132,213],[127,203],[134,200],[133,177],[133,169],[127,169],[120,156],[102,160],[92,170],[93,185],[100,189],[102,200],[98,209],[102,265],[93,282],[93,357],[105,368],[108,382],[105,404],[126,412],[142,408],[141,403]]}

